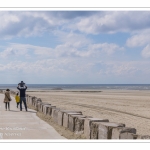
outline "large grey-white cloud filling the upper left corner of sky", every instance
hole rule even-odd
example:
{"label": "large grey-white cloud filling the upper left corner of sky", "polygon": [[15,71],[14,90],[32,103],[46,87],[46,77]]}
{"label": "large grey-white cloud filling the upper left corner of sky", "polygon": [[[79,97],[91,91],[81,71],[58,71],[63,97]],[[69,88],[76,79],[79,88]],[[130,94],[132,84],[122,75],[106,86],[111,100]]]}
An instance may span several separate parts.
{"label": "large grey-white cloud filling the upper left corner of sky", "polygon": [[0,38],[40,36],[63,24],[64,19],[43,11],[0,12]]}

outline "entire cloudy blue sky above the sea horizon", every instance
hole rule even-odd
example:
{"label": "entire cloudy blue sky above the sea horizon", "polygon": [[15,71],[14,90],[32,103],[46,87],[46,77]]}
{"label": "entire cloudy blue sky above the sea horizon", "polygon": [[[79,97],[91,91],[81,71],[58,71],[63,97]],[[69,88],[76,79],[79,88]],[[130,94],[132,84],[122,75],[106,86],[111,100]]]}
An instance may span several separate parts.
{"label": "entire cloudy blue sky above the sea horizon", "polygon": [[150,84],[150,11],[0,11],[0,84]]}

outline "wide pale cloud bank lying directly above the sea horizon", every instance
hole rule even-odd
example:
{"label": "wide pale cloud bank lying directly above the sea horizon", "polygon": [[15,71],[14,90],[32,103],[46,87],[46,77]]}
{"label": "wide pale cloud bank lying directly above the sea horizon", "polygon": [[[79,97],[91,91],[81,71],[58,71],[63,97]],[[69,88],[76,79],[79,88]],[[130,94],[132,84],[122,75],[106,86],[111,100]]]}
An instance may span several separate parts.
{"label": "wide pale cloud bank lying directly above the sea horizon", "polygon": [[[76,83],[77,78],[83,83],[83,78],[87,83],[119,83],[130,81],[129,83],[149,83],[150,74],[149,61],[112,61],[86,58],[51,58],[35,60],[33,62],[10,61],[0,63],[0,76],[10,76],[30,78],[33,83],[44,81],[46,83],[57,83],[60,78],[66,83]],[[144,78],[143,78],[144,77]],[[41,78],[41,80],[40,80]],[[72,79],[69,82],[69,79]],[[103,80],[105,79],[105,81]],[[111,79],[111,80],[110,80]],[[108,81],[108,82],[107,82]],[[135,82],[134,82],[135,81]]]}

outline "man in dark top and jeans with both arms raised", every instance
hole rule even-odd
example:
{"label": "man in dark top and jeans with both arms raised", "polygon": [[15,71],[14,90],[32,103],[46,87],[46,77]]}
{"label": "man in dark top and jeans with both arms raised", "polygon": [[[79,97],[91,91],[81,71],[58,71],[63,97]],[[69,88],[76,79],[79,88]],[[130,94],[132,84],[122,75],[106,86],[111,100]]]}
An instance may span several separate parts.
{"label": "man in dark top and jeans with both arms raised", "polygon": [[22,111],[22,102],[24,103],[24,107],[27,111],[26,94],[25,94],[27,86],[23,81],[21,81],[21,83],[18,84],[17,89],[20,91],[20,111]]}

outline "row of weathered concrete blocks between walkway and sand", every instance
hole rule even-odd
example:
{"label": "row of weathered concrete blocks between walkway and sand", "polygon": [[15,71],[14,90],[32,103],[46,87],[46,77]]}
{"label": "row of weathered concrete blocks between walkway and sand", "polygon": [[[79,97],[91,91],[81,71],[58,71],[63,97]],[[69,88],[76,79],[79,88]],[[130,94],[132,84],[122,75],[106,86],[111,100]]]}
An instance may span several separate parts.
{"label": "row of weathered concrete blocks between walkway and sand", "polygon": [[[3,92],[3,91],[1,91]],[[14,95],[16,92],[11,91]],[[61,110],[57,106],[42,102],[41,99],[26,95],[28,106],[37,112],[51,116],[53,121],[76,134],[84,134],[87,139],[149,139],[148,135],[137,135],[136,129],[125,124],[109,122],[107,118],[93,118],[81,111]]]}

